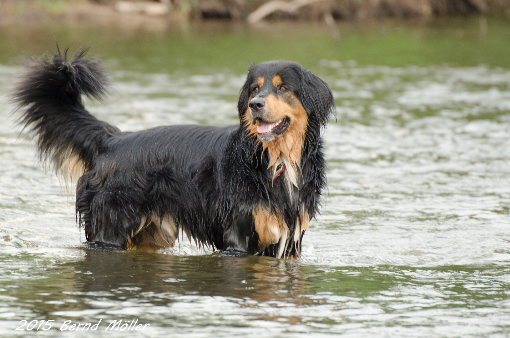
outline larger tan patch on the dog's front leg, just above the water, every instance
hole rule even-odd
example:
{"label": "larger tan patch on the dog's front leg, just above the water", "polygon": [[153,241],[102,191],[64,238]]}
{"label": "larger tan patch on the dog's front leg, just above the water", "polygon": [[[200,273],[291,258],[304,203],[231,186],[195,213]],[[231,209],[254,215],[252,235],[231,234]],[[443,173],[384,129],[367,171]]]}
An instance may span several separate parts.
{"label": "larger tan patch on the dog's front leg, just above the water", "polygon": [[255,231],[259,234],[259,247],[265,248],[268,245],[278,243],[282,237],[283,218],[280,213],[273,214],[263,206],[258,205],[253,210]]}

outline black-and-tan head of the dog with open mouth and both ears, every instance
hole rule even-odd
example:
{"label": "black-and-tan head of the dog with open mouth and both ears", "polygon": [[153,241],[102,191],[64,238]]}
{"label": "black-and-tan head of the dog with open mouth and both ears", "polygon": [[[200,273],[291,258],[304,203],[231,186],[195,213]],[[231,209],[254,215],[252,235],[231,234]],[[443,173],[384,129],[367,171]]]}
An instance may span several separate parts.
{"label": "black-and-tan head of the dog with open mouth and both ears", "polygon": [[324,126],[335,102],[328,85],[308,69],[270,61],[250,67],[237,107],[249,134],[272,142],[287,133],[303,134],[311,119]]}

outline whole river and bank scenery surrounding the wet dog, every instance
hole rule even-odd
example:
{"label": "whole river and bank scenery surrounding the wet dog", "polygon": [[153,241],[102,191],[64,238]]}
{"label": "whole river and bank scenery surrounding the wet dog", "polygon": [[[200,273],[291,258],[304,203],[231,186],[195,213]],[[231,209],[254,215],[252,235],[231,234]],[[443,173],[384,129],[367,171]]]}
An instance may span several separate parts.
{"label": "whole river and bank scenery surrounding the wet dog", "polygon": [[[337,115],[301,257],[87,250],[9,101],[55,41],[107,64],[86,107],[122,131],[237,124],[253,62],[323,78]],[[508,337],[509,56],[510,0],[0,0],[0,336]]]}

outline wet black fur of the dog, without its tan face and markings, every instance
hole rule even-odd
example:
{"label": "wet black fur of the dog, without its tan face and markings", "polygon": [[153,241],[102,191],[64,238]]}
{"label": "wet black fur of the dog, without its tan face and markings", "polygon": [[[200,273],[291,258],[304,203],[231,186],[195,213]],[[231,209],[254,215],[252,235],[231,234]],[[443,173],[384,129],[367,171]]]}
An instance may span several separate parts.
{"label": "wet black fur of the dog, without its tan face and markings", "polygon": [[[57,172],[69,156],[83,161],[76,212],[88,241],[124,248],[142,216],[156,213],[161,219],[169,213],[201,245],[274,256],[278,244],[258,245],[253,207],[262,202],[281,211],[290,238],[301,206],[315,215],[325,186],[320,132],[334,111],[334,100],[325,82],[310,71],[284,61],[253,65],[239,97],[241,116],[257,77],[280,75],[307,110],[300,183],[294,189],[297,198],[291,199],[283,176],[272,182],[267,152],[262,153],[242,122],[120,132],[98,120],[85,110],[82,94],[103,99],[109,82],[100,61],[84,58],[85,52],[72,61],[58,52],[50,59],[25,62],[13,100],[24,108],[20,123],[37,137],[41,159],[52,162]],[[289,239],[285,256],[298,255],[300,242],[295,247]]]}

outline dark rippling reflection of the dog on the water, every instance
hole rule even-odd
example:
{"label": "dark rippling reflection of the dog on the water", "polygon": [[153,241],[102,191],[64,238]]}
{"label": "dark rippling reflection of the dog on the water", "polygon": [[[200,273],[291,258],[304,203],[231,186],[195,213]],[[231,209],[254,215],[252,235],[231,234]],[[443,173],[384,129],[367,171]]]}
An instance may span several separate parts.
{"label": "dark rippling reflection of the dog on the water", "polygon": [[308,288],[302,267],[295,261],[218,254],[179,257],[88,251],[84,260],[64,267],[81,271],[74,273],[74,291],[109,292],[135,287],[137,293],[248,297],[258,302],[290,298],[296,304],[307,304],[299,298],[308,293]]}

